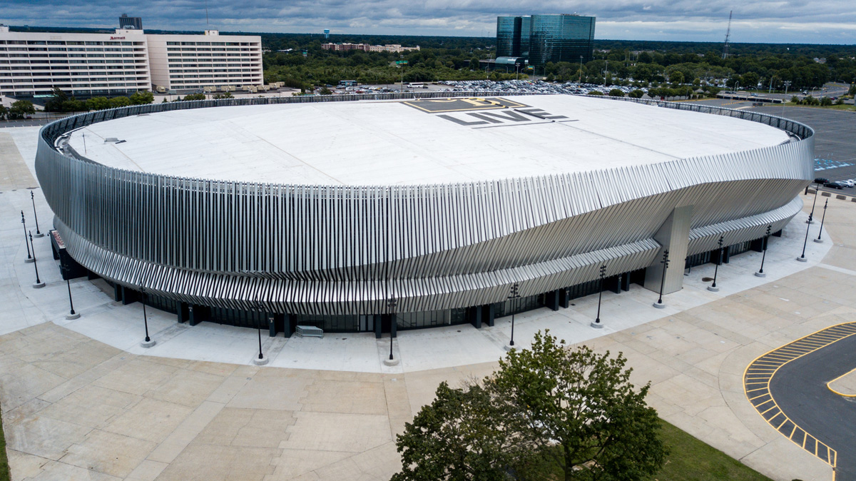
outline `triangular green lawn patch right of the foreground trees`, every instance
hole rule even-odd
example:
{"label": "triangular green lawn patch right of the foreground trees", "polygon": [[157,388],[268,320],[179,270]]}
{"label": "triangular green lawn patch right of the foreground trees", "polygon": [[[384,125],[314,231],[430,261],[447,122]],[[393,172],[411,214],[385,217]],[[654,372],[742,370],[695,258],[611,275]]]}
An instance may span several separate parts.
{"label": "triangular green lawn patch right of the foreground trees", "polygon": [[711,448],[663,421],[663,442],[671,454],[652,481],[771,481],[728,454]]}

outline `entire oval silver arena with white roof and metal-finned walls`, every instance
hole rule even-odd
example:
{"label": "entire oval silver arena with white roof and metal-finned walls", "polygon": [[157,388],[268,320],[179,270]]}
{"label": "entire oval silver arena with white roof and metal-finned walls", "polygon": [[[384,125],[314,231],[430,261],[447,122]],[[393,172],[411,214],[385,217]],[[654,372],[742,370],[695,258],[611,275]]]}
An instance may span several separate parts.
{"label": "entire oval silver arena with white roof and metal-finned walls", "polygon": [[180,322],[271,335],[480,327],[568,307],[604,265],[604,288],[675,292],[685,267],[763,248],[812,178],[813,131],[776,116],[441,95],[150,104],[48,124],[36,171],[64,275],[102,277],[116,300]]}

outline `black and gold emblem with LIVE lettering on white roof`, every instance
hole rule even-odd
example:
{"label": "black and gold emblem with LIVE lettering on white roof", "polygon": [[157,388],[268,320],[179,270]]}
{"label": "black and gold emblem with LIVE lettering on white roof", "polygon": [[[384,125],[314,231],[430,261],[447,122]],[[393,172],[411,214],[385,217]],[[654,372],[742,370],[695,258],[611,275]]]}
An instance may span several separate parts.
{"label": "black and gold emblem with LIVE lettering on white roof", "polygon": [[[566,116],[550,112],[508,98],[420,98],[404,102],[414,109],[474,128],[500,127],[529,122],[571,122]],[[482,127],[479,127],[482,126]]]}

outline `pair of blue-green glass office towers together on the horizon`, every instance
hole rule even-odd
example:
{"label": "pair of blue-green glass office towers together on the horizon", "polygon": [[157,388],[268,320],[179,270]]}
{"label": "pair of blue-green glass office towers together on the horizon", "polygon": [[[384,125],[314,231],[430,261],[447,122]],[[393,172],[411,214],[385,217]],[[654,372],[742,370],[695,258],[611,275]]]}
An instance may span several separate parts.
{"label": "pair of blue-green glass office towers together on the horizon", "polygon": [[591,61],[595,17],[531,15],[496,17],[496,56],[522,56],[533,65]]}

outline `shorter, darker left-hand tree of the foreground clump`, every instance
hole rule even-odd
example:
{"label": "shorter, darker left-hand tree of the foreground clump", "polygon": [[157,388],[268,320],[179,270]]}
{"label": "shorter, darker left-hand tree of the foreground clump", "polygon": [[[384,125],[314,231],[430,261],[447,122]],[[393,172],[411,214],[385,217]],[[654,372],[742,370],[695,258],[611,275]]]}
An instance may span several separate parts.
{"label": "shorter, darker left-hand tree of the foreground clump", "polygon": [[490,393],[478,384],[451,389],[443,382],[436,394],[395,436],[401,472],[391,481],[505,480],[511,438]]}

